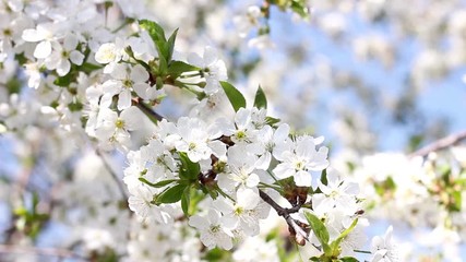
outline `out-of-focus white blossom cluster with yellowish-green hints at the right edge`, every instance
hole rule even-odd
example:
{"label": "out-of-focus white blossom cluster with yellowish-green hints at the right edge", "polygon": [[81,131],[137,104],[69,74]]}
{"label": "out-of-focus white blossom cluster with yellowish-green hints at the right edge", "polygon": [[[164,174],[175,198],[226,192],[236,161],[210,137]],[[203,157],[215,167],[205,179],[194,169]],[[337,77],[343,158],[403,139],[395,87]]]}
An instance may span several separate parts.
{"label": "out-of-focus white blossom cluster with yellowish-green hints at the right edge", "polygon": [[[419,235],[417,245],[458,261],[466,228],[464,155],[464,147],[455,146],[427,156],[379,153],[360,163],[351,157],[335,160],[354,164],[347,171],[365,189],[368,216],[405,223]],[[414,250],[406,252],[415,255]]]}

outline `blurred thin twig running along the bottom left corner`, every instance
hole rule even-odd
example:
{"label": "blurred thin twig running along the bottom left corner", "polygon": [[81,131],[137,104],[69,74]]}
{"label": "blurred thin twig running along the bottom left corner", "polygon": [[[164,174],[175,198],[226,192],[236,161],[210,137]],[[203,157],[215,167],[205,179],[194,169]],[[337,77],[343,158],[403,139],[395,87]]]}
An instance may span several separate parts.
{"label": "blurred thin twig running along the bottom left corner", "polygon": [[80,261],[87,261],[84,257],[74,253],[67,249],[55,248],[37,248],[37,247],[22,247],[15,245],[0,245],[0,253],[33,253],[37,255],[49,255],[57,258],[76,259]]}

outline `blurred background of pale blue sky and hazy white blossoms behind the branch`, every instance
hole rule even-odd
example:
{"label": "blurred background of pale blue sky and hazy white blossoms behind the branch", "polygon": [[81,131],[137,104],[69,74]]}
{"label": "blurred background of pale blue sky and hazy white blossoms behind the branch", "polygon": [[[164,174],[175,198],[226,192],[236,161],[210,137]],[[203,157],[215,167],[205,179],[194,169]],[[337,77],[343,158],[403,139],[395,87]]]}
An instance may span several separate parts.
{"label": "blurred background of pale blue sky and hazy white blossoms behind the branch", "polygon": [[[227,63],[229,80],[247,94],[250,105],[261,85],[270,103],[268,114],[299,132],[324,135],[337,166],[359,165],[379,152],[409,154],[466,130],[464,0],[310,0],[307,15],[271,5],[268,17],[254,16],[251,10],[267,1],[117,2],[126,8],[115,10],[116,16],[123,13],[155,19],[167,32],[179,27],[178,58],[202,52],[206,45],[216,47]],[[8,74],[8,68],[1,70]],[[159,107],[169,119],[184,115],[192,105],[192,97],[178,91],[172,95]],[[1,102],[9,103],[8,95],[1,97]],[[180,103],[186,107],[175,106]],[[84,167],[76,171],[81,158],[63,143],[65,135],[46,135],[51,128],[27,126],[16,136],[0,136],[0,177],[7,181],[0,183],[0,199],[5,200],[0,205],[0,230],[8,230],[12,223],[8,199],[15,189],[8,181],[22,179],[21,174],[25,172],[29,174],[25,176],[28,179],[34,174],[23,186],[47,191],[56,177],[64,174],[71,180],[72,174],[85,172]],[[60,159],[50,153],[53,146],[64,152]],[[41,160],[25,164],[33,159],[29,155],[40,155]],[[457,159],[458,155],[454,157]],[[124,164],[119,154],[111,160]],[[393,165],[411,165],[405,162],[410,160],[389,160]],[[374,165],[382,168],[382,164]],[[40,176],[45,179],[40,180]],[[86,184],[84,181],[92,181],[93,175],[83,177]],[[81,188],[70,190],[76,195],[82,193]],[[463,213],[464,210],[459,214]],[[405,247],[406,260],[466,258],[463,235],[459,239],[455,236],[451,245],[433,240],[425,243],[419,239],[435,236],[434,227],[419,222],[422,226],[414,230],[416,223],[375,219],[370,234],[381,235],[389,224],[396,224],[395,237]],[[60,223],[49,226],[40,235],[40,245],[47,247],[50,236],[61,239],[69,230]],[[7,235],[3,231],[3,238]]]}

